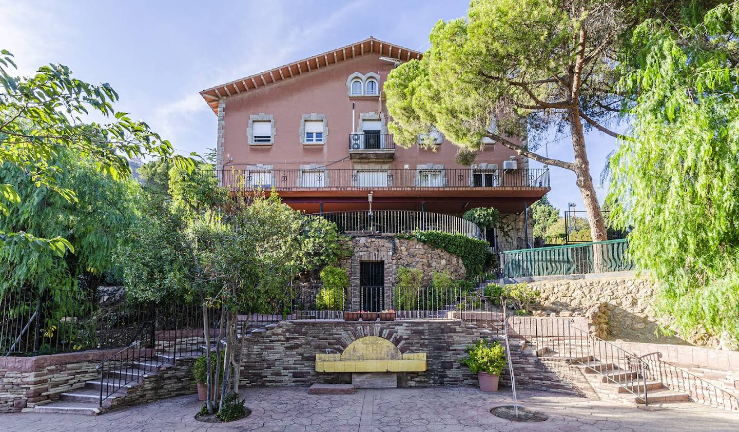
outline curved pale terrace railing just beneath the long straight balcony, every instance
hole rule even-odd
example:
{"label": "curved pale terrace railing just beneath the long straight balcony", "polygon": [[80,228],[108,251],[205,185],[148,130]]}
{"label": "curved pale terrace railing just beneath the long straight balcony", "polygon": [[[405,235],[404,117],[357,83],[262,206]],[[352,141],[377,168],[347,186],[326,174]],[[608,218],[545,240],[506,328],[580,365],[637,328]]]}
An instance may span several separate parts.
{"label": "curved pale terrace railing just beneath the long straight balcony", "polygon": [[450,234],[482,239],[480,227],[474,222],[443,213],[429,213],[412,210],[374,210],[367,211],[337,211],[328,213],[314,213],[311,216],[321,216],[334,222],[338,229],[357,233],[385,233],[403,234],[415,230],[438,230]]}

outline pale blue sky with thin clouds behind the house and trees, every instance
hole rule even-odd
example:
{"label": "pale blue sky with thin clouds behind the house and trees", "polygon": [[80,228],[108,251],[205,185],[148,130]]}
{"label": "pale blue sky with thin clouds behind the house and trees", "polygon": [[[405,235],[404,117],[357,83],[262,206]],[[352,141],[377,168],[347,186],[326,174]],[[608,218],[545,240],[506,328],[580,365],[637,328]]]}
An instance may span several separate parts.
{"label": "pale blue sky with thin clouds behind the house and trees", "polygon": [[[466,15],[467,1],[33,1],[0,0],[0,49],[19,72],[42,64],[107,82],[118,109],[145,120],[182,153],[214,147],[216,117],[198,92],[369,35],[425,50],[439,19]],[[569,137],[549,156],[572,159]],[[615,140],[588,134],[596,183]],[[533,166],[540,164],[532,163]],[[533,168],[532,166],[532,168]],[[571,171],[552,168],[549,196],[563,210],[582,198]],[[599,188],[599,196],[605,190]]]}

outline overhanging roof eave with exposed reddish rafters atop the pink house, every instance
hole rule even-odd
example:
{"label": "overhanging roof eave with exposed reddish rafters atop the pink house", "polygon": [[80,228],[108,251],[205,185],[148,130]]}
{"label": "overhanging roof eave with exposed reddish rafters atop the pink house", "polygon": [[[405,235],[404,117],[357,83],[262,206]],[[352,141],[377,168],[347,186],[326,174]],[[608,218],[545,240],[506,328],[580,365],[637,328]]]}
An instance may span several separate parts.
{"label": "overhanging roof eave with exposed reddish rafters atop the pink house", "polygon": [[389,42],[380,41],[370,36],[364,41],[349,44],[346,47],[332,49],[321,54],[311,55],[293,63],[285,64],[265,72],[259,72],[245,78],[231,81],[230,83],[220,84],[200,92],[200,95],[213,112],[218,112],[218,100],[224,97],[240,95],[242,92],[249,92],[262,86],[268,86],[272,83],[278,83],[283,80],[289,80],[299,75],[319,70],[322,67],[332,66],[341,61],[351,60],[361,55],[374,52],[384,57],[394,58],[398,61],[409,61],[412,58],[420,59],[423,57],[422,52],[415,51],[400,45],[390,44]]}

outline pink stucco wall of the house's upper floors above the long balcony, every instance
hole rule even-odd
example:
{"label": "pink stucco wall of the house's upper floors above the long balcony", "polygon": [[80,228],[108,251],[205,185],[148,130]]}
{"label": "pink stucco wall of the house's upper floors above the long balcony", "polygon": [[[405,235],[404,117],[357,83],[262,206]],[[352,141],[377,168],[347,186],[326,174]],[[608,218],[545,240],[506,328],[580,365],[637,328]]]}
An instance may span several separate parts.
{"label": "pink stucco wall of the house's upper floors above the long balcony", "polygon": [[[223,145],[224,168],[242,168],[245,164],[273,165],[274,169],[297,169],[299,165],[331,164],[327,168],[353,168],[349,159],[349,135],[352,132],[352,103],[355,103],[355,127],[361,113],[385,112],[379,106],[378,97],[347,96],[347,78],[353,72],[375,72],[384,83],[392,64],[381,61],[375,53],[353,60],[332,64],[319,70],[304,73],[269,84],[262,88],[242,92],[225,100],[225,124]],[[303,145],[299,137],[302,114],[325,114],[328,134],[324,145]],[[247,128],[250,114],[272,114],[276,134],[273,145],[249,145]],[[403,168],[416,164],[443,164],[444,168],[468,168],[454,162],[457,146],[444,141],[437,152],[424,150],[418,145],[412,148],[396,148],[395,160],[390,168]],[[230,155],[233,160],[226,157]],[[516,155],[503,145],[488,146],[477,157],[477,163],[497,163]],[[519,158],[520,161],[520,158]],[[519,162],[520,164],[521,162]],[[519,165],[521,167],[521,165]]]}

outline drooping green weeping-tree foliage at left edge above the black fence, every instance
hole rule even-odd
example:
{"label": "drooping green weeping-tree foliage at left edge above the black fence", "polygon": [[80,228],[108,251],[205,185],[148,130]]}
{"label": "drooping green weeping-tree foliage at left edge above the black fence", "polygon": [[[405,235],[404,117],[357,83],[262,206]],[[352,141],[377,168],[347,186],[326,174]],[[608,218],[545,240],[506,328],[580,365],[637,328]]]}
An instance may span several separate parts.
{"label": "drooping green weeping-tree foliage at left edge above the black fence", "polygon": [[8,242],[0,247],[0,292],[13,287],[69,289],[84,281],[97,284],[112,269],[112,252],[120,232],[136,219],[134,202],[140,189],[133,181],[116,181],[98,171],[95,162],[68,151],[50,160],[57,167],[56,188],[75,193],[69,201],[33,175],[6,163],[0,182],[13,184],[18,205],[0,218],[0,231],[28,233],[44,239],[66,239],[69,248],[50,250]]}

